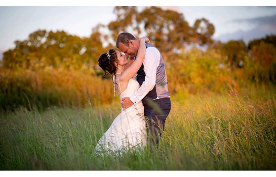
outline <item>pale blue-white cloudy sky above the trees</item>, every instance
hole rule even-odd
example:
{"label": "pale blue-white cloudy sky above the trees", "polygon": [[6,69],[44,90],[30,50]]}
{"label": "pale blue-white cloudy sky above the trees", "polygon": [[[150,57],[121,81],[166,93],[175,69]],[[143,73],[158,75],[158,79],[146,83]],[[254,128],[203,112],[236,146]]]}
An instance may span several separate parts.
{"label": "pale blue-white cloudy sky above the trees", "polygon": [[[145,6],[138,6],[142,10]],[[276,34],[276,6],[162,6],[183,13],[192,26],[206,18],[215,26],[214,39],[248,42],[266,34]],[[116,19],[114,6],[0,6],[1,53],[14,48],[15,40],[25,40],[38,29],[65,30],[89,36],[97,24]]]}

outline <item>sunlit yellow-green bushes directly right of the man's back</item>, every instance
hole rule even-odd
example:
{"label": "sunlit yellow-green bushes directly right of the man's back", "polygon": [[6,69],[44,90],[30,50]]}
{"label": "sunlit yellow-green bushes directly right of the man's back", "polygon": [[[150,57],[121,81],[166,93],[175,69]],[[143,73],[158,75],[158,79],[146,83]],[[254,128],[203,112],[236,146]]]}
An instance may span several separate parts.
{"label": "sunlit yellow-green bushes directly right of the man's back", "polygon": [[168,56],[166,60],[169,90],[172,93],[225,93],[235,83],[231,72],[220,68],[221,55],[215,50],[202,52],[193,48],[186,53]]}

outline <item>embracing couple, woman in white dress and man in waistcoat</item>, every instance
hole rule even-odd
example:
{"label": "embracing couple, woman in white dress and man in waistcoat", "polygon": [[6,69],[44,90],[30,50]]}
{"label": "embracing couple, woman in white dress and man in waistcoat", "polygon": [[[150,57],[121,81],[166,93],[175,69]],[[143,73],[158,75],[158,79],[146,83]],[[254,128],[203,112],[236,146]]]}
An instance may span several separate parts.
{"label": "embracing couple, woman in white dress and man in waistcoat", "polygon": [[121,112],[98,141],[97,154],[143,149],[147,142],[158,146],[171,109],[165,65],[158,49],[147,37],[137,39],[128,32],[118,35],[116,46],[121,52],[110,49],[98,62],[104,77],[112,74]]}

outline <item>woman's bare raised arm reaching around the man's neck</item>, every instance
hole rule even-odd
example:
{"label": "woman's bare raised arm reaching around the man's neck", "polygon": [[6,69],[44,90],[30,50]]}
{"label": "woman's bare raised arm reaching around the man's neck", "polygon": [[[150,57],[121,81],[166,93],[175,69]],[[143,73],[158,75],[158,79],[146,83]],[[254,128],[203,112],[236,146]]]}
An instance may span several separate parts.
{"label": "woman's bare raised arm reaching around the man's neck", "polygon": [[138,54],[135,62],[133,62],[126,70],[124,70],[120,77],[120,81],[128,81],[137,73],[139,68],[142,66],[146,53],[146,41],[149,41],[147,37],[143,37],[140,39],[140,47],[138,49]]}

